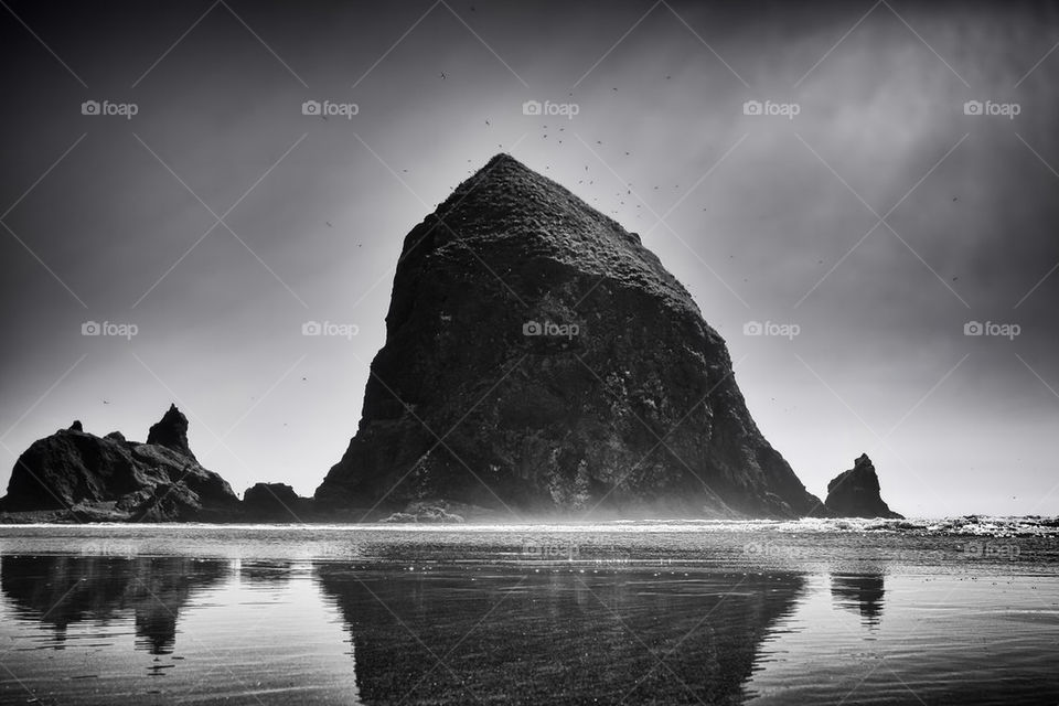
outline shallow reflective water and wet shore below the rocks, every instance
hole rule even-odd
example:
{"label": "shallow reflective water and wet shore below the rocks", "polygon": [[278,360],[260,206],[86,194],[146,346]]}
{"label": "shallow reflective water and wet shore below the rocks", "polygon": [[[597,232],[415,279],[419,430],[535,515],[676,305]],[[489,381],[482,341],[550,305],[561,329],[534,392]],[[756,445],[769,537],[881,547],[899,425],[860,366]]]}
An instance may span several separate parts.
{"label": "shallow reflective water and wet shore below the rocks", "polygon": [[3,704],[1056,704],[1057,663],[1037,521],[0,526]]}

